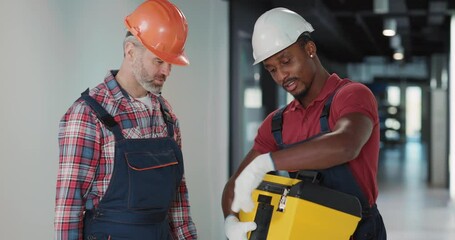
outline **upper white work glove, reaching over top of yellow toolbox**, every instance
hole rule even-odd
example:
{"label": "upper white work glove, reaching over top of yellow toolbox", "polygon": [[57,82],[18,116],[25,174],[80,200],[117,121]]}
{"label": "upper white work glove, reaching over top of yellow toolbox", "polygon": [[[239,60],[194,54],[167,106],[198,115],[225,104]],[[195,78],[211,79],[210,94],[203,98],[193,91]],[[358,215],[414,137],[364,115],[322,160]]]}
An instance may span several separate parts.
{"label": "upper white work glove, reaching over top of yellow toolbox", "polygon": [[231,210],[239,212],[251,212],[254,208],[251,194],[261,183],[264,175],[275,170],[275,165],[270,153],[257,156],[248,166],[243,169],[235,180],[234,200],[232,201]]}

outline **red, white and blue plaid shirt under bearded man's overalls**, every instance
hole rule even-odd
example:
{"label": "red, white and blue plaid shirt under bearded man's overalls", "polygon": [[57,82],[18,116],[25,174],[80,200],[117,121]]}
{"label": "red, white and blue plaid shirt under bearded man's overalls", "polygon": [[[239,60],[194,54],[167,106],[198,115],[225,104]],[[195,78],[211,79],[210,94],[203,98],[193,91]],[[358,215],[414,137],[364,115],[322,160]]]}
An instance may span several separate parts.
{"label": "red, white and blue plaid shirt under bearded man's overalls", "polygon": [[[125,138],[167,136],[166,123],[158,96],[149,93],[152,111],[130,98],[110,72],[104,83],[90,91],[120,124]],[[180,128],[171,106],[165,100],[175,121],[174,136],[181,147]],[[66,112],[59,126],[60,160],[55,205],[55,239],[83,238],[84,211],[98,206],[109,185],[114,166],[115,138],[94,111],[78,99]],[[182,179],[169,209],[169,225],[174,239],[197,239],[190,216],[188,189]]]}

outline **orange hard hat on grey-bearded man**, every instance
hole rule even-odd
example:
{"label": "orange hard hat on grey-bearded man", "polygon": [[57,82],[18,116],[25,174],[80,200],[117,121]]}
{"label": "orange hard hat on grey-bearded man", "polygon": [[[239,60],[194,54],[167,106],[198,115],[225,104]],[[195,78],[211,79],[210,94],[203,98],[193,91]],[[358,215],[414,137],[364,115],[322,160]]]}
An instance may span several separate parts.
{"label": "orange hard hat on grey-bearded man", "polygon": [[146,0],[125,18],[130,31],[163,61],[188,65],[184,53],[188,23],[182,11],[167,0]]}

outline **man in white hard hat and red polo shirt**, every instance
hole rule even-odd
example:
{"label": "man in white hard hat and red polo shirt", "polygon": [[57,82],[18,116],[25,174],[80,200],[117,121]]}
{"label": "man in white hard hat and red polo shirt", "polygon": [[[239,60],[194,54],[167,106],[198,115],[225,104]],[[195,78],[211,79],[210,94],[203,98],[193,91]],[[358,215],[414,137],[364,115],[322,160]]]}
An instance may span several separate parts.
{"label": "man in white hard hat and red polo shirt", "polygon": [[[255,23],[254,64],[262,62],[295,99],[266,117],[252,149],[226,183],[222,207],[230,240],[247,239],[256,229],[254,222],[240,222],[238,212],[253,210],[252,191],[266,173],[278,170],[291,175],[298,170],[320,172],[323,185],[354,195],[362,204],[362,220],[351,239],[386,239],[376,207],[376,99],[366,86],[327,72],[311,39],[313,31],[310,23],[286,8],[269,10]],[[278,132],[274,119],[280,120]]]}

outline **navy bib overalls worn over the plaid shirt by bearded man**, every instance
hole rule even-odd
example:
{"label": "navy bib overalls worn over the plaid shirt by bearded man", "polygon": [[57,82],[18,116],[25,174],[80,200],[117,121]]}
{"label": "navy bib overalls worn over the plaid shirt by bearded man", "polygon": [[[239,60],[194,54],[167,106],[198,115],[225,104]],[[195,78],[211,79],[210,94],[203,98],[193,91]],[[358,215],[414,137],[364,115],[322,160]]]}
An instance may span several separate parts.
{"label": "navy bib overalls worn over the plaid shirt by bearded man", "polygon": [[168,240],[168,209],[183,176],[182,152],[161,97],[168,137],[125,139],[119,124],[88,91],[82,99],[115,136],[114,170],[99,205],[84,216],[85,240]]}

